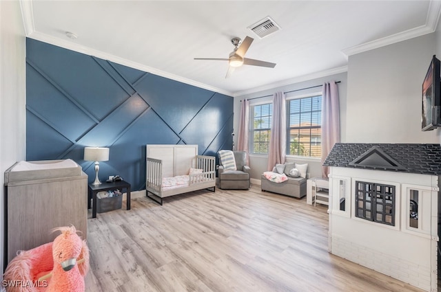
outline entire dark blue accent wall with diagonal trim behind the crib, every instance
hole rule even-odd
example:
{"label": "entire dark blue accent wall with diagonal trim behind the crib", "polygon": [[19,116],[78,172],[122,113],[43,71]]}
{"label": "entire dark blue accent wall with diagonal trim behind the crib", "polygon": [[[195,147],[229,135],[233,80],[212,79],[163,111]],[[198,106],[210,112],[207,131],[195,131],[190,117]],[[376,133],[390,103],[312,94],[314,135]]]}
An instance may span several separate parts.
{"label": "entire dark blue accent wall with diagonal trim behind the crib", "polygon": [[145,144],[232,148],[233,98],[30,38],[26,159],[73,159],[94,180],[85,146],[110,148],[99,177],[145,188]]}

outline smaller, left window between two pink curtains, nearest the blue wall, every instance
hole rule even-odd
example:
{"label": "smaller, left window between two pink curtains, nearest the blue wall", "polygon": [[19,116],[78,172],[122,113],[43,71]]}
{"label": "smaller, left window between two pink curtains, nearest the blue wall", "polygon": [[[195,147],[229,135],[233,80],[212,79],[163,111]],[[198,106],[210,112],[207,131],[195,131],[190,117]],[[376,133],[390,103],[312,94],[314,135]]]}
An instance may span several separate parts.
{"label": "smaller, left window between two pink curtains, nearest the blue wall", "polygon": [[252,107],[252,153],[267,154],[273,104],[260,104]]}

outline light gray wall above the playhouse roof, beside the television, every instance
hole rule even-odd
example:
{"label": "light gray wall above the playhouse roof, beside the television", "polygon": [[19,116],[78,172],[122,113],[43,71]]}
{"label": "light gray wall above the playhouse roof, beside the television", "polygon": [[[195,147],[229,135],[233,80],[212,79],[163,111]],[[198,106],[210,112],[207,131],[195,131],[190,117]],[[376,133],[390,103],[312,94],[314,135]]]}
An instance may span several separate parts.
{"label": "light gray wall above the playhouse roof, beside the television", "polygon": [[346,142],[439,143],[421,131],[422,81],[435,33],[349,56]]}

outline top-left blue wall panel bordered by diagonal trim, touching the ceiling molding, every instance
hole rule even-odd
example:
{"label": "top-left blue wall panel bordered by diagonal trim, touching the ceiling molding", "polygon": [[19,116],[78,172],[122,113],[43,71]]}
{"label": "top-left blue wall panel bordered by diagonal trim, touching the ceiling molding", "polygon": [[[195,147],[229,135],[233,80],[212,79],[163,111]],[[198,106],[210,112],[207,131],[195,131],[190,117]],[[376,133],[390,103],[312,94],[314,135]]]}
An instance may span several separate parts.
{"label": "top-left blue wall panel bordered by diagonal trim, touching the ceiling molding", "polygon": [[132,95],[107,74],[96,58],[34,40],[31,42],[28,41],[30,47],[26,47],[28,66],[38,68],[48,80],[59,85],[99,120]]}

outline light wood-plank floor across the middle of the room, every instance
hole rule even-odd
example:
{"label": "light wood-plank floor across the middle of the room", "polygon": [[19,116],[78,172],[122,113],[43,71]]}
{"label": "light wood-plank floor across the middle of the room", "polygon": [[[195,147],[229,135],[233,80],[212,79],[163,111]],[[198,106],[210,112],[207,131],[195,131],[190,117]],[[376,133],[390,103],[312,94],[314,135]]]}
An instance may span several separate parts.
{"label": "light wood-plank floor across the middle of the room", "polygon": [[327,251],[327,207],[248,191],[132,199],[88,219],[86,291],[422,291]]}

